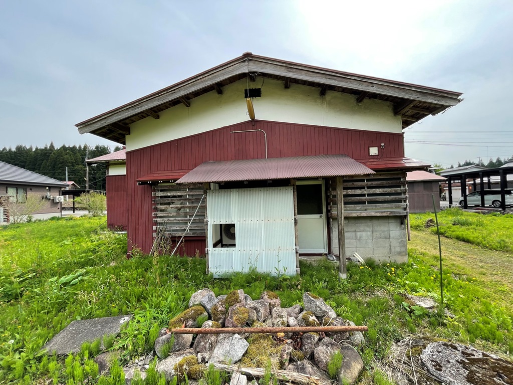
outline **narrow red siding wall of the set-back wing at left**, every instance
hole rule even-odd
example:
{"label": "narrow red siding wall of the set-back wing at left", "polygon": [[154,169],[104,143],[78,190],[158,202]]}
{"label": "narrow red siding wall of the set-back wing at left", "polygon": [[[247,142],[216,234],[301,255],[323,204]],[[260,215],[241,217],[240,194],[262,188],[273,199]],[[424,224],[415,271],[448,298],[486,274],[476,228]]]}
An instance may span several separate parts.
{"label": "narrow red siding wall of the set-back wing at left", "polygon": [[127,229],[127,178],[125,175],[107,176],[107,226],[113,229]]}

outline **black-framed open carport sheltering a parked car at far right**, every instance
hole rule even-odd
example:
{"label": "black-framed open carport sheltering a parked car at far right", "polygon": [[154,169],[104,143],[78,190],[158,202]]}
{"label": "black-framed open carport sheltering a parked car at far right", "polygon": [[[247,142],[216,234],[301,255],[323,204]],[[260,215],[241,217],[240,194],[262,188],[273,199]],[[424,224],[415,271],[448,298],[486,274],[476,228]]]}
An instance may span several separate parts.
{"label": "black-framed open carport sheltering a parked car at far right", "polygon": [[[463,208],[468,208],[467,205],[467,189],[466,183],[467,179],[471,179],[473,182],[473,191],[477,191],[477,184],[479,183],[479,190],[482,191],[485,189],[485,179],[486,179],[486,188],[491,188],[491,178],[499,177],[499,186],[501,190],[501,209],[506,209],[506,197],[505,197],[505,189],[507,188],[507,176],[513,175],[513,166],[508,167],[499,167],[499,168],[490,168],[488,170],[479,170],[472,172],[461,172],[459,174],[452,174],[447,176],[447,183],[449,189],[449,207],[453,206],[452,202],[452,183],[459,182],[461,185],[461,192],[463,197]],[[481,206],[485,206],[484,195],[481,194]]]}

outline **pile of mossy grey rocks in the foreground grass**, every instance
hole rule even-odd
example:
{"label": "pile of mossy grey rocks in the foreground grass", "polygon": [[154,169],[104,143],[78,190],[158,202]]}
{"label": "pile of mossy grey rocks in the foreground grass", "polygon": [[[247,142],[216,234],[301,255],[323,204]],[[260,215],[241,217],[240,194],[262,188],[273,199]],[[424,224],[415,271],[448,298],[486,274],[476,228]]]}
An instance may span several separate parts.
{"label": "pile of mossy grey rocks in the foreground grass", "polygon": [[353,348],[364,343],[361,332],[198,334],[195,338],[192,334],[169,332],[175,328],[354,326],[314,294],[305,293],[303,302],[303,306],[282,308],[280,298],[268,291],[253,300],[243,290],[217,297],[208,288],[200,290],[192,295],[189,308],[171,319],[169,328],[162,329],[155,340],[155,352],[160,358],[157,371],[168,380],[184,374],[190,380],[199,379],[210,364],[218,368],[228,364],[229,368],[238,368],[231,383],[243,385],[248,381],[241,374],[244,368],[265,368],[267,363],[274,373],[300,373],[327,384],[328,362],[340,352],[343,361],[336,380],[354,382],[363,369],[362,358]]}

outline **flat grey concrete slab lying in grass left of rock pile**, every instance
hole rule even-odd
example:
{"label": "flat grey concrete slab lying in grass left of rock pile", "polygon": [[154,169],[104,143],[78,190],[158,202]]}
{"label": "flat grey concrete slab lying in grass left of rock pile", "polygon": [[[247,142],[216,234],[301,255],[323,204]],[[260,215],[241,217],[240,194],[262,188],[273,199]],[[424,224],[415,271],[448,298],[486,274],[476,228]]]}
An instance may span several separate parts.
{"label": "flat grey concrete slab lying in grass left of rock pile", "polygon": [[93,342],[105,335],[119,334],[121,325],[130,321],[132,317],[133,314],[129,314],[73,321],[48,341],[43,350],[46,350],[47,354],[56,352],[58,355],[77,353],[84,342]]}

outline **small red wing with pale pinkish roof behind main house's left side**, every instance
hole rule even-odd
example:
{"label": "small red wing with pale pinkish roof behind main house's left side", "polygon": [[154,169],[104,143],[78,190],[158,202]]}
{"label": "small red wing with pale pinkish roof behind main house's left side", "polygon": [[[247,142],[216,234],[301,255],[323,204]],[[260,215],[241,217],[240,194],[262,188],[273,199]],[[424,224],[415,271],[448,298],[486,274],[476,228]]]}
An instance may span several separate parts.
{"label": "small red wing with pale pinkish roof behind main house's left side", "polygon": [[89,164],[106,164],[107,226],[112,229],[126,230],[128,224],[128,196],[125,149],[89,159],[86,162]]}

